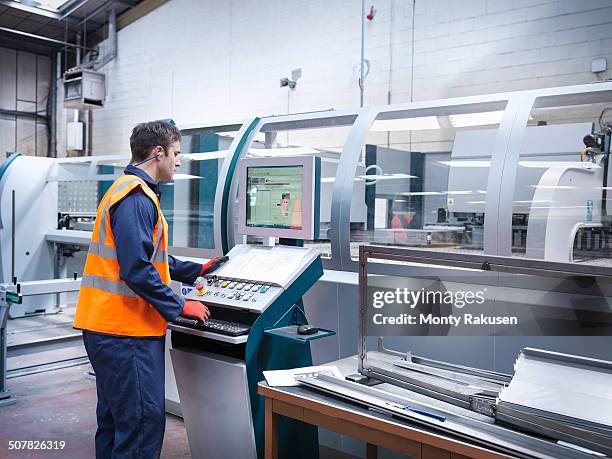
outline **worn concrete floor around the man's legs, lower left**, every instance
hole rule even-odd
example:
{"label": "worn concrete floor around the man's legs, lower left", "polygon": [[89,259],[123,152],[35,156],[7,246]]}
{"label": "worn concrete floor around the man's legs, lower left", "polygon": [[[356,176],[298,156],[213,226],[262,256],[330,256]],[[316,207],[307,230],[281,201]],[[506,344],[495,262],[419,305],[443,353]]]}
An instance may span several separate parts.
{"label": "worn concrete floor around the man's legs, lower left", "polygon": [[[0,406],[0,458],[94,457],[96,382],[89,365],[8,380],[15,404]],[[9,440],[64,440],[63,451],[9,451]],[[183,420],[166,417],[162,458],[189,458]]]}

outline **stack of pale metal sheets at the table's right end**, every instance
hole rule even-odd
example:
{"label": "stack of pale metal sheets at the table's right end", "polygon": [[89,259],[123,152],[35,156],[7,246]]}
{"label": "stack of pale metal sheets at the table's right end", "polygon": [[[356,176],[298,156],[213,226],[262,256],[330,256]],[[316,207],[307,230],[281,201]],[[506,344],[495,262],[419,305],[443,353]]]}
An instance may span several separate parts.
{"label": "stack of pale metal sheets at the table's right end", "polygon": [[612,362],[525,348],[496,420],[612,455]]}

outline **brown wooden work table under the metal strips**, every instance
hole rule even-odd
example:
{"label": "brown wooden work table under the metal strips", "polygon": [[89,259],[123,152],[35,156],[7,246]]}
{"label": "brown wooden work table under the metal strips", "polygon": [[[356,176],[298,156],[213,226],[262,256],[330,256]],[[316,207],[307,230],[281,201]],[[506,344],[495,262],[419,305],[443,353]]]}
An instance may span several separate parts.
{"label": "brown wooden work table under the metal strips", "polygon": [[307,387],[270,387],[264,381],[259,383],[258,392],[265,397],[266,404],[266,459],[278,456],[276,424],[279,416],[362,440],[367,444],[367,459],[376,458],[377,446],[415,459],[511,457]]}

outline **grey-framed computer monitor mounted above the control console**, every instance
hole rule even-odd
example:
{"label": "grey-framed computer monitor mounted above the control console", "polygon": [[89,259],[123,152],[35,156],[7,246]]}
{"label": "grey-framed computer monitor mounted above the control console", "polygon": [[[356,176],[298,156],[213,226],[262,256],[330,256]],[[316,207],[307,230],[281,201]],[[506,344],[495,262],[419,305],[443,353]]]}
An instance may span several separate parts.
{"label": "grey-framed computer monitor mounted above the control console", "polygon": [[306,240],[319,237],[321,158],[244,158],[238,168],[241,234]]}

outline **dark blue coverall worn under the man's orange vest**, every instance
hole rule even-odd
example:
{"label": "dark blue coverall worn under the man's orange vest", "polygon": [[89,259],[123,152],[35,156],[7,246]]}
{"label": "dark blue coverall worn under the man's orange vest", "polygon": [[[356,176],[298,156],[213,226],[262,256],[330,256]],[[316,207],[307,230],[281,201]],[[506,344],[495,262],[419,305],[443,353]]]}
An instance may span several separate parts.
{"label": "dark blue coverall worn under the man's orange vest", "polygon": [[[142,178],[158,193],[156,183],[141,169],[126,174]],[[184,300],[165,285],[150,262],[155,204],[134,190],[110,210],[120,276],[139,296],[172,321]],[[172,279],[192,284],[202,265],[168,257]],[[116,336],[83,331],[87,355],[96,373],[96,458],[157,458],[166,426],[165,337]]]}

